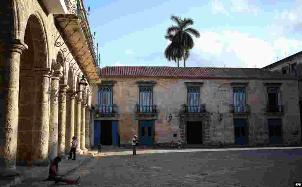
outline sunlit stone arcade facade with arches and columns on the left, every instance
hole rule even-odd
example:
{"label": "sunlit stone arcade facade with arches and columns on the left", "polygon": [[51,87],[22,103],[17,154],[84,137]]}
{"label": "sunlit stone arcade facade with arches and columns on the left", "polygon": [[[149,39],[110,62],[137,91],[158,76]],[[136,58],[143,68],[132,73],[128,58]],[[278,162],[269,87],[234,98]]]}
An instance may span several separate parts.
{"label": "sunlit stone arcade facade with arches and columns on the left", "polygon": [[[69,107],[74,99],[70,101],[69,94],[58,91],[76,91],[76,78],[88,70],[81,68],[76,73],[81,61],[71,60],[74,56],[68,46],[62,50],[54,45],[64,40],[54,14],[49,14],[41,1],[5,3],[7,14],[0,17],[0,92],[5,95],[1,103],[0,134],[4,138],[0,140],[0,175],[13,176],[18,173],[16,163],[41,166],[63,156],[71,143],[69,136],[74,135],[70,125],[74,125],[75,108],[74,104]],[[72,64],[66,61],[67,54]],[[88,87],[91,84],[88,82]]]}

